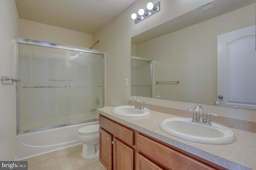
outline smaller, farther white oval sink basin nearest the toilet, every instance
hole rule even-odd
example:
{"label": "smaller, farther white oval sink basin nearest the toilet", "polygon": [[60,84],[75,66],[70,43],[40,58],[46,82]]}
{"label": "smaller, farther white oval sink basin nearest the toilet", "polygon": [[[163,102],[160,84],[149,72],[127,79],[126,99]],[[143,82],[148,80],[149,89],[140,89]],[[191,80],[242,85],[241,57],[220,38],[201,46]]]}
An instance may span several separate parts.
{"label": "smaller, farther white oval sink basin nearest the toilet", "polygon": [[144,117],[150,115],[150,110],[144,107],[144,110],[134,108],[134,106],[119,106],[112,110],[112,113],[124,117]]}

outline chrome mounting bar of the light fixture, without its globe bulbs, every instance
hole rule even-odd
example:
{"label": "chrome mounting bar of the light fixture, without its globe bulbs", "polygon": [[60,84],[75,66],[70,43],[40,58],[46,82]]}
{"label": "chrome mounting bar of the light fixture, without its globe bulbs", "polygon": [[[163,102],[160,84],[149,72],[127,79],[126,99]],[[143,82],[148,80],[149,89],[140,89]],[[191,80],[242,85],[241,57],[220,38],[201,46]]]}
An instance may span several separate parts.
{"label": "chrome mounting bar of the light fixture, without its globe bulbs", "polygon": [[[151,5],[152,5],[152,3],[151,3]],[[140,21],[142,21],[142,20],[144,20],[144,19],[146,19],[146,18],[148,18],[149,16],[152,16],[153,14],[155,14],[156,12],[158,12],[158,11],[160,11],[160,1],[159,2],[156,2],[155,4],[154,4],[154,6],[152,7],[152,9],[146,9],[146,10],[144,10],[144,14],[142,14],[141,12],[143,11],[143,9],[140,9],[139,10],[139,14],[133,14],[134,16],[138,16],[138,17],[134,17],[134,18],[132,18],[132,19],[134,19],[134,23],[136,24],[136,23],[138,23],[138,22],[140,22]]]}

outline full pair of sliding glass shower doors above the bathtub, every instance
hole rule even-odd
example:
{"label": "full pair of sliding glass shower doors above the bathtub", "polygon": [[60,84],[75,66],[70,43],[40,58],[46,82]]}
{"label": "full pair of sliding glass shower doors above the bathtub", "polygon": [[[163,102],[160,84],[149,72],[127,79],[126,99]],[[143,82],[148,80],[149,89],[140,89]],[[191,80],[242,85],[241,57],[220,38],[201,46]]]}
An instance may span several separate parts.
{"label": "full pair of sliding glass shower doors above the bathtub", "polygon": [[18,43],[18,132],[98,119],[104,55],[72,49]]}

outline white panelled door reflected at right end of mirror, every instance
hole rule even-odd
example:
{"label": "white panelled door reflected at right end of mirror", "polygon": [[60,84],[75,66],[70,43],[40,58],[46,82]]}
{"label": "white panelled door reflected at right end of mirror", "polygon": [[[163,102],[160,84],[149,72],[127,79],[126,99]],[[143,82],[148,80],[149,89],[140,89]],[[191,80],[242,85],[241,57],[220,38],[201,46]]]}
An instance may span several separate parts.
{"label": "white panelled door reflected at right end of mirror", "polygon": [[218,96],[222,106],[256,109],[255,25],[218,35]]}

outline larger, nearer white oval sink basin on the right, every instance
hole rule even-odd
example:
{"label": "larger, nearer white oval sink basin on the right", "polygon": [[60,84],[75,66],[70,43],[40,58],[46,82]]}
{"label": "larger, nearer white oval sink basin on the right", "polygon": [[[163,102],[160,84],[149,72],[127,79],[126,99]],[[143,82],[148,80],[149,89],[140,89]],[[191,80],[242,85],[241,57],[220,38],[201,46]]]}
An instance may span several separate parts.
{"label": "larger, nearer white oval sink basin on the right", "polygon": [[160,128],[172,136],[197,143],[223,145],[236,141],[234,133],[223,125],[212,122],[212,126],[207,126],[191,120],[184,117],[165,119]]}

